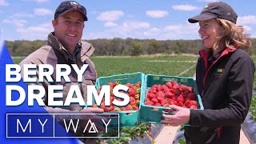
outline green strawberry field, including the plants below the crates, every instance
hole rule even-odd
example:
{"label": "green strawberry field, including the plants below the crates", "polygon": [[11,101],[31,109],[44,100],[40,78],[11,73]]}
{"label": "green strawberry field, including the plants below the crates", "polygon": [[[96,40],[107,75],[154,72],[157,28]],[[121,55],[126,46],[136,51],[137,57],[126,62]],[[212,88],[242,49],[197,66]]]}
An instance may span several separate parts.
{"label": "green strawberry field, including the plants below the crates", "polygon": [[[256,56],[252,57],[256,62]],[[141,57],[93,57],[90,58],[95,66],[99,77],[130,74],[134,72],[142,72],[144,74],[155,75],[171,75],[176,76],[181,74],[183,77],[193,77],[197,57],[195,56],[141,56]],[[21,58],[14,58],[14,63],[21,62]],[[190,69],[189,69],[190,68]],[[254,90],[256,90],[256,78],[254,77]],[[256,95],[250,106],[252,117],[256,121]],[[151,126],[150,126],[151,127]],[[134,130],[136,129],[136,130]],[[136,134],[134,134],[136,132]],[[146,132],[146,133],[144,133]],[[150,135],[150,128],[146,125],[140,125],[133,129],[124,129],[122,139],[118,138],[114,141],[127,142],[134,137],[144,137]],[[152,134],[151,134],[152,135]]]}

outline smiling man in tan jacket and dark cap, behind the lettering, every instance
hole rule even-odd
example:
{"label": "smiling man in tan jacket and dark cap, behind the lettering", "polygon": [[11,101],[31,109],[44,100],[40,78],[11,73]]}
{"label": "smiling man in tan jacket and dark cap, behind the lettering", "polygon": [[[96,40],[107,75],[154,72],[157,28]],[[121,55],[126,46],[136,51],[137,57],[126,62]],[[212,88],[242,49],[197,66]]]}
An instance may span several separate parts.
{"label": "smiling man in tan jacket and dark cap, behind the lettering", "polygon": [[[54,26],[54,32],[48,35],[46,46],[42,46],[34,53],[25,58],[20,66],[24,64],[50,64],[54,67],[54,74],[52,78],[54,83],[44,81],[37,83],[44,86],[47,94],[47,87],[49,85],[55,85],[60,83],[56,80],[56,64],[76,64],[81,68],[84,64],[88,64],[85,73],[83,74],[82,83],[78,83],[78,75],[71,70],[69,75],[71,82],[65,82],[62,80],[61,84],[63,88],[63,102],[66,100],[66,96],[70,90],[70,86],[78,85],[84,101],[86,102],[86,88],[87,85],[94,85],[97,77],[94,63],[90,61],[89,57],[94,52],[94,47],[88,42],[82,42],[82,30],[85,26],[84,22],[87,21],[86,8],[80,5],[78,2],[66,1],[62,2],[55,11],[52,25]],[[72,68],[71,68],[72,69]],[[22,70],[23,73],[23,70]],[[75,97],[75,95],[74,95]],[[56,108],[47,106],[48,96],[44,99],[46,104],[46,110],[49,113],[99,113],[103,112],[102,109],[88,108],[83,109],[78,104],[71,104],[68,107]],[[71,116],[70,116],[71,117]]]}

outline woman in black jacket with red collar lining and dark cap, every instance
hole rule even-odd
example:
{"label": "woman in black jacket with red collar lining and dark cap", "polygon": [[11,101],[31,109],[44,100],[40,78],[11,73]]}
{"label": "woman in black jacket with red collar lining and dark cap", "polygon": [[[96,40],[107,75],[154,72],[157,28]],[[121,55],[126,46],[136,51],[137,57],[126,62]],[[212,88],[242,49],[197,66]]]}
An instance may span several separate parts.
{"label": "woman in black jacket with red collar lining and dark cap", "polygon": [[224,2],[212,2],[201,14],[190,18],[199,22],[198,33],[203,50],[196,67],[196,83],[205,110],[177,110],[163,114],[171,126],[189,122],[185,128],[186,143],[239,143],[241,124],[249,110],[254,79],[254,62],[246,53],[250,38],[242,26],[236,26],[238,15]]}

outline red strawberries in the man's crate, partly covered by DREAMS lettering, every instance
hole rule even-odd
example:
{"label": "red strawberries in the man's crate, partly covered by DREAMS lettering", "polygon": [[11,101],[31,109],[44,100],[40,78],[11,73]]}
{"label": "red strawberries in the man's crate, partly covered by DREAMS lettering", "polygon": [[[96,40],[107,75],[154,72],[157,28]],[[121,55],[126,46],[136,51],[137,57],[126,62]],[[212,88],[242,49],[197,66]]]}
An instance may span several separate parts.
{"label": "red strawberries in the man's crate, partly covered by DREAMS lettering", "polygon": [[[139,109],[139,98],[140,98],[140,93],[141,93],[141,84],[142,82],[137,82],[136,84],[131,84],[131,83],[126,83],[126,86],[129,87],[129,90],[127,92],[123,92],[129,95],[130,97],[130,103],[126,107],[118,107],[118,106],[113,106],[112,102],[114,101],[114,94],[113,94],[113,89],[114,86],[120,85],[120,82],[109,82],[108,85],[110,85],[110,106],[105,106],[104,101],[105,99],[103,98],[102,104],[99,108],[102,108],[104,112],[107,111],[124,111],[124,110],[138,110]],[[122,101],[122,98],[115,98],[118,101]],[[97,107],[96,104],[94,104],[93,107]]]}

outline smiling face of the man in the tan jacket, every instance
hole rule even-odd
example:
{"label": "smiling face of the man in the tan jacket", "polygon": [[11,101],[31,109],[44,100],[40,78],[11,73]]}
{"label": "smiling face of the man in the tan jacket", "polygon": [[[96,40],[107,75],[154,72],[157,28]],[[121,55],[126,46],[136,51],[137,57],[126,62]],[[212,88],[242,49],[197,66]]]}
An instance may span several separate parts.
{"label": "smiling face of the man in the tan jacket", "polygon": [[66,14],[58,16],[52,21],[55,37],[62,43],[71,54],[75,46],[82,38],[84,21],[82,14],[76,10],[71,10]]}

